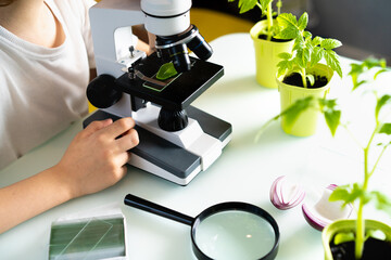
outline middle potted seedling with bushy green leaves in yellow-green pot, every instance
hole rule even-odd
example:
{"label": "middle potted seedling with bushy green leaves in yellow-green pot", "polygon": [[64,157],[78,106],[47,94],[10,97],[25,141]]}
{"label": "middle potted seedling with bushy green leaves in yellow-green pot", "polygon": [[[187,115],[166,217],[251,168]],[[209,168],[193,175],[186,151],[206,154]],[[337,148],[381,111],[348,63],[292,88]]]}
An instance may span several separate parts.
{"label": "middle potted seedling with bushy green leaves in yellow-green pot", "polygon": [[[339,57],[333,51],[342,43],[330,38],[313,38],[312,34],[305,30],[308,22],[306,13],[299,21],[292,14],[279,16],[277,21],[285,28],[279,32],[279,37],[294,37],[294,46],[291,53],[279,54],[281,61],[277,64],[277,84],[281,114],[274,119],[281,117],[285,132],[295,136],[308,136],[316,132],[319,109],[332,105],[316,102],[316,99],[312,98],[326,98],[335,72],[342,77]],[[323,61],[326,64],[323,64]],[[301,102],[291,106],[299,100]],[[308,106],[315,109],[303,109]]]}

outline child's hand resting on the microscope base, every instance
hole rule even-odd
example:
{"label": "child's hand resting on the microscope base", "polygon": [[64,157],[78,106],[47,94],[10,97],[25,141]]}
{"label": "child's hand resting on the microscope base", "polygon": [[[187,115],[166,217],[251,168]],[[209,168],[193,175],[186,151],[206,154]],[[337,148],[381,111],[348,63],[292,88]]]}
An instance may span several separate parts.
{"label": "child's hand resting on the microscope base", "polygon": [[131,118],[91,122],[72,141],[54,166],[71,197],[99,192],[119,181],[127,172],[128,150],[139,143]]}

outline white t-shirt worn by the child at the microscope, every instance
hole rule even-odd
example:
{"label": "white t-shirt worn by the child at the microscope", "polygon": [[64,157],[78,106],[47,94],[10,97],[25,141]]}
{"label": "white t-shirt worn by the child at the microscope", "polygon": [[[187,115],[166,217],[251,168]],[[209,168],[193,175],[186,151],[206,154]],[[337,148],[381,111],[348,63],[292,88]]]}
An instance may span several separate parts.
{"label": "white t-shirt worn by the child at the microscope", "polygon": [[94,67],[88,9],[92,0],[47,0],[65,41],[45,48],[0,26],[0,169],[88,112]]}

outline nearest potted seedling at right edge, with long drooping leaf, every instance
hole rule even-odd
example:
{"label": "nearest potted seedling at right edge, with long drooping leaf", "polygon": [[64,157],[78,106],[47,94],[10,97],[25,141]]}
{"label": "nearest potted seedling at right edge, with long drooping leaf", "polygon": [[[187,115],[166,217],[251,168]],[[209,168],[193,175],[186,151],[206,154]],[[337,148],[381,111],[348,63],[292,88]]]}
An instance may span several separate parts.
{"label": "nearest potted seedling at right edge, with long drooping leaf", "polygon": [[[356,90],[358,87],[366,83],[366,80],[361,79],[361,75],[364,72],[373,67],[380,66],[381,68],[375,74],[374,80],[379,74],[388,72],[384,60],[368,58],[362,64],[352,64],[351,66],[352,69],[349,75],[352,77],[353,90]],[[381,115],[388,114],[388,116],[390,116],[391,114],[391,94],[379,95],[379,93],[376,91],[373,91],[373,93],[376,98],[376,107],[375,113],[373,114],[375,116],[375,126],[371,129],[366,144],[360,145],[364,157],[363,182],[338,186],[331,193],[329,198],[331,202],[342,200],[344,206],[357,203],[357,218],[356,220],[338,220],[324,229],[321,237],[326,260],[379,260],[389,259],[391,256],[391,226],[379,221],[365,220],[363,211],[365,205],[370,202],[375,202],[378,209],[386,210],[391,213],[391,200],[384,194],[378,191],[368,190],[369,179],[373,177],[386,150],[391,146],[391,122],[383,122],[380,118]],[[318,113],[323,114],[332,135],[335,135],[339,126],[346,128],[348,132],[353,135],[352,131],[348,127],[348,123],[342,123],[340,120],[341,110],[338,108],[337,100],[327,100],[325,96],[308,95],[306,98],[297,100],[279,115],[268,120],[258,132],[256,139],[260,138],[263,130],[274,120],[277,120],[280,117],[286,117],[287,123],[292,123],[297,121],[299,115],[305,113],[306,110],[317,110]],[[375,146],[375,142],[377,141],[377,138],[381,139],[381,135],[383,135],[383,140],[386,138],[387,141],[377,143],[381,150],[379,153],[375,153],[375,159],[371,158],[371,160],[369,160],[369,155],[374,154],[370,152]],[[353,140],[357,139],[353,136]],[[375,162],[370,166],[370,161]],[[373,248],[373,245],[376,244],[374,250],[377,251],[378,255],[373,256],[370,250],[364,250],[367,243],[369,244],[367,248]],[[332,249],[330,249],[330,247],[332,247]],[[339,250],[340,247],[342,247],[343,250]],[[381,249],[379,249],[379,247]],[[386,252],[383,250],[386,250]],[[353,251],[353,256],[337,256],[335,258],[332,251],[336,253],[340,251]],[[362,258],[363,256],[365,256],[365,258]]]}

